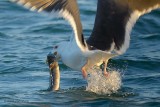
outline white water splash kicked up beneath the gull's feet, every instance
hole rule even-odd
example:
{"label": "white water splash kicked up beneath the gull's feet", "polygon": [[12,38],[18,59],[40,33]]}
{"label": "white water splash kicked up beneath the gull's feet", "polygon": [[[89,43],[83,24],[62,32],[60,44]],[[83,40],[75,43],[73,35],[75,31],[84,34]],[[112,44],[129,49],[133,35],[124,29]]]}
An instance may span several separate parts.
{"label": "white water splash kicked up beneath the gull's feet", "polygon": [[101,69],[91,69],[87,78],[86,91],[96,94],[116,93],[121,87],[121,74],[118,71],[109,72],[108,78],[105,77]]}

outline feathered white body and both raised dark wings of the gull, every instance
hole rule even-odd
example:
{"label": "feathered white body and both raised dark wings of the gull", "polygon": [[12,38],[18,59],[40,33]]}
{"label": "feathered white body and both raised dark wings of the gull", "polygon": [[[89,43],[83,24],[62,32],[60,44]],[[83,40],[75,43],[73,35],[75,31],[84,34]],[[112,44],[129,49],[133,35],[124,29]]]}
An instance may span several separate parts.
{"label": "feathered white body and both raised dark wings of the gull", "polygon": [[[76,0],[12,0],[30,10],[58,12],[69,21],[74,38],[54,49],[64,64],[85,71],[114,56],[123,54],[130,43],[130,32],[143,14],[160,7],[160,0],[98,0],[91,36],[85,41]],[[91,1],[92,2],[92,1]]]}

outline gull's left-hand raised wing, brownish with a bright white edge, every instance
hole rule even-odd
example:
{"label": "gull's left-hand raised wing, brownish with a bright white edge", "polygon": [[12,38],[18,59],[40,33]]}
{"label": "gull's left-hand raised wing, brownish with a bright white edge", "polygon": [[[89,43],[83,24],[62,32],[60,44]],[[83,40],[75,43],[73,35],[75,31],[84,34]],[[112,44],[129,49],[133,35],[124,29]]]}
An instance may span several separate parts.
{"label": "gull's left-hand raised wing, brownish with a bright white edge", "polygon": [[76,0],[11,0],[23,5],[32,11],[58,12],[71,24],[77,45],[85,47],[82,24],[80,21],[79,8]]}

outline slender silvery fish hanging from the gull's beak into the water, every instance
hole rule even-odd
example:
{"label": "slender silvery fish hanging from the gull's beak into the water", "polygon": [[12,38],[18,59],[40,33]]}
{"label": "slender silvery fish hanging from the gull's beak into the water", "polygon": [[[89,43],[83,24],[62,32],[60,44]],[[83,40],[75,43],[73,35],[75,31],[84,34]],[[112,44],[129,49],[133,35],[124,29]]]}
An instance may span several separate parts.
{"label": "slender silvery fish hanging from the gull's beak into the water", "polygon": [[47,63],[50,69],[49,90],[59,90],[60,88],[60,70],[58,65],[57,53],[48,54]]}

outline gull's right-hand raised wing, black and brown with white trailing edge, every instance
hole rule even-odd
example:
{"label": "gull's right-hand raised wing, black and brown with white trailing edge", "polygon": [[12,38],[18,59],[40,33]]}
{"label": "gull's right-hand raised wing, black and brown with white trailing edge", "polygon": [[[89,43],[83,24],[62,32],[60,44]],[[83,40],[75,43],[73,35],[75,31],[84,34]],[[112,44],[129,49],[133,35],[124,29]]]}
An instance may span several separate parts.
{"label": "gull's right-hand raised wing, black and brown with white trailing edge", "polygon": [[98,0],[94,29],[87,44],[123,54],[137,19],[160,7],[160,0]]}

